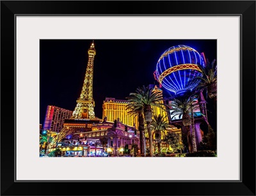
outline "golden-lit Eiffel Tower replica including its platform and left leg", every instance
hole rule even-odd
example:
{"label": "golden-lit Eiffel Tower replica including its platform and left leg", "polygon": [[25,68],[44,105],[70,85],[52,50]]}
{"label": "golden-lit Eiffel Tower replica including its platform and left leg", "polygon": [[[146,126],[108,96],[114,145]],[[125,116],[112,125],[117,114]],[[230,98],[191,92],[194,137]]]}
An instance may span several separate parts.
{"label": "golden-lit Eiffel Tower replica including its platform and left leg", "polygon": [[76,108],[70,119],[65,119],[63,129],[54,137],[50,146],[61,142],[68,135],[74,135],[79,132],[90,132],[92,125],[100,123],[101,119],[95,117],[93,100],[93,61],[96,55],[94,42],[88,49],[88,63],[84,77],[83,87],[79,98],[77,99]]}

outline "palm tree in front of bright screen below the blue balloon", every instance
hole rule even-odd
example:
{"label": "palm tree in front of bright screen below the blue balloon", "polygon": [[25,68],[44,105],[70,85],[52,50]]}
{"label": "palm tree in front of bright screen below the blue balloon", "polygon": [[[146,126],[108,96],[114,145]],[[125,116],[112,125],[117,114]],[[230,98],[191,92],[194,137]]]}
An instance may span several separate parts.
{"label": "palm tree in front of bright screen below the blue balloon", "polygon": [[[196,139],[195,139],[195,125],[194,125],[194,119],[193,119],[193,94],[192,95],[184,95],[180,98],[173,98],[172,102],[170,103],[170,114],[173,115],[172,119],[176,116],[180,117],[182,116],[182,124],[184,124],[185,127],[188,127],[191,125],[192,128],[192,151],[196,151]],[[192,119],[191,119],[192,118]],[[187,128],[188,130],[188,128]],[[187,132],[187,134],[190,132]],[[188,135],[187,135],[188,136]],[[188,136],[188,143],[191,144],[190,138]]]}

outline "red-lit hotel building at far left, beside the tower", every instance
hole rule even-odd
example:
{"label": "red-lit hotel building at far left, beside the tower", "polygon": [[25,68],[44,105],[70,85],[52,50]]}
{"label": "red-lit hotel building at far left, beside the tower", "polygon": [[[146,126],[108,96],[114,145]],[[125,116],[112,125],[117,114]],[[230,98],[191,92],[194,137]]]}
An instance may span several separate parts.
{"label": "red-lit hotel building at far left, beside the tower", "polygon": [[44,120],[44,130],[50,132],[60,132],[64,126],[65,119],[72,116],[71,110],[56,107],[54,105],[48,105]]}

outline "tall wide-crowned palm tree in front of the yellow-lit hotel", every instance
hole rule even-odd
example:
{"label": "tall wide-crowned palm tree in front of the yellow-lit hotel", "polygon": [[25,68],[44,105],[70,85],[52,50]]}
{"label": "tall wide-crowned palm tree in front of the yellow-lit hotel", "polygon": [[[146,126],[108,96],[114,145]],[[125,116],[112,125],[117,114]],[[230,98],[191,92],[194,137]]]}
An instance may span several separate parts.
{"label": "tall wide-crowned palm tree in front of the yellow-lit hotel", "polygon": [[134,105],[134,111],[143,110],[144,119],[147,123],[147,131],[149,138],[149,149],[150,156],[153,156],[153,140],[151,132],[151,122],[152,122],[152,106],[163,107],[161,101],[163,98],[161,94],[154,93],[154,87],[142,86],[136,89],[136,93],[130,93],[128,100]]}

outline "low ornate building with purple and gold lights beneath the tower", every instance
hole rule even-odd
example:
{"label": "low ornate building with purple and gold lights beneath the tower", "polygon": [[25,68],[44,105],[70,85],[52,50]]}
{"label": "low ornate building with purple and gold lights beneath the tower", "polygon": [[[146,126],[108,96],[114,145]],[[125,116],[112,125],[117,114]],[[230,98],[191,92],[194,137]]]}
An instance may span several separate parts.
{"label": "low ornate building with purple and gold lights beneath the tower", "polygon": [[[106,143],[102,142],[106,139]],[[137,144],[140,146],[140,134],[132,126],[127,126],[120,121],[104,121],[93,124],[88,132],[70,134],[57,144],[63,156],[102,156],[109,153],[113,156],[123,154],[126,145]],[[54,151],[56,146],[49,149]]]}

